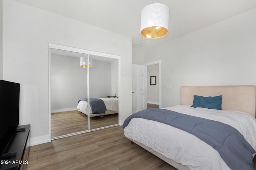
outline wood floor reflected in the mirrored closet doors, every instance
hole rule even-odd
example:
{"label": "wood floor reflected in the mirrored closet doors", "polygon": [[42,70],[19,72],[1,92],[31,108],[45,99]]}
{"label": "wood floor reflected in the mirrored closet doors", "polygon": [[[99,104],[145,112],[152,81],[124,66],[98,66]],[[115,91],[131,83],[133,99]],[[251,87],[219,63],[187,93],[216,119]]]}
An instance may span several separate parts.
{"label": "wood floor reflected in the mirrored closet doors", "polygon": [[[52,137],[87,130],[87,115],[77,110],[52,113]],[[90,119],[90,129],[118,124],[118,113]]]}

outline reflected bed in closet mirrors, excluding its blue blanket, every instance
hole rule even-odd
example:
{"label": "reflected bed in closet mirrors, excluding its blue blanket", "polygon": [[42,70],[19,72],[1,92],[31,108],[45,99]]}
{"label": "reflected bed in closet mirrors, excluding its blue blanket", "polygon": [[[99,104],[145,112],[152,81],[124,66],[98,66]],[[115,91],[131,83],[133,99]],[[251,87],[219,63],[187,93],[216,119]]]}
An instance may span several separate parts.
{"label": "reflected bed in closet mirrors, excluding its blue blanket", "polygon": [[[90,106],[90,108],[89,108],[90,117],[118,113],[118,98],[99,98],[99,99],[104,102],[104,105],[106,106],[106,110],[102,111],[101,113],[99,113],[99,112],[92,113],[92,109],[91,109],[91,106]],[[80,111],[81,113],[84,113],[84,114],[88,115],[87,114],[87,104],[88,103],[85,100],[80,99],[76,109],[78,111]]]}

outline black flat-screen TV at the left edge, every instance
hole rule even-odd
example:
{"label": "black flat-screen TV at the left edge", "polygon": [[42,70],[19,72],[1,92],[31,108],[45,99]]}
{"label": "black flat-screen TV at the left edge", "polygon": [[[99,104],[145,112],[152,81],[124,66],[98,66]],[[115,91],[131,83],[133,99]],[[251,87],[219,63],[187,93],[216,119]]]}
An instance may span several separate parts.
{"label": "black flat-screen TV at the left edge", "polygon": [[19,125],[20,84],[0,80],[0,155]]}

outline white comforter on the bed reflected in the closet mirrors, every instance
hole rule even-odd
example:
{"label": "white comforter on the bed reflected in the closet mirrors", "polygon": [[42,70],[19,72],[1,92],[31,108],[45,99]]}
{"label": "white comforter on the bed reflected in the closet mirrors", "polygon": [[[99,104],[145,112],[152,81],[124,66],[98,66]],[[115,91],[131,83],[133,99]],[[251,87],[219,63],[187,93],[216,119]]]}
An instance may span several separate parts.
{"label": "white comforter on the bed reflected in the closet mirrors", "polygon": [[[107,110],[118,112],[118,98],[100,98],[100,99],[103,100]],[[76,109],[82,111],[83,113],[87,113],[87,102],[84,100],[80,101]],[[91,107],[89,109],[90,109],[90,113],[92,113]]]}

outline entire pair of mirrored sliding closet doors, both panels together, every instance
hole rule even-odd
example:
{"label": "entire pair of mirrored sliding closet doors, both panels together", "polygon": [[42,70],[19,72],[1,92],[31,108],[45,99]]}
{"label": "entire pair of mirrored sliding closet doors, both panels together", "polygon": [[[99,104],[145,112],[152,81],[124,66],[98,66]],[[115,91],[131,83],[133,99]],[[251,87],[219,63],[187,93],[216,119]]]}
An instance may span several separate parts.
{"label": "entire pair of mirrored sliding closet doors, both panels together", "polygon": [[49,47],[51,139],[118,125],[119,56]]}

